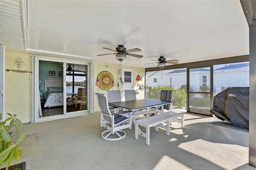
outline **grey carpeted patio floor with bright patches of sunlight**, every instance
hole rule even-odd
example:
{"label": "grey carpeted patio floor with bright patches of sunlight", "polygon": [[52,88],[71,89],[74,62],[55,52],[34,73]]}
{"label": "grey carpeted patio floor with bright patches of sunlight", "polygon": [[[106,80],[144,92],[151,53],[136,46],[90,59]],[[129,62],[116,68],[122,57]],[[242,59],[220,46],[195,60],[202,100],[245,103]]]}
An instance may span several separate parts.
{"label": "grey carpeted patio floor with bright patches of sunlight", "polygon": [[213,117],[184,119],[184,128],[174,122],[169,136],[150,128],[150,145],[142,136],[134,138],[134,126],[122,140],[102,139],[100,113],[25,124],[22,156],[12,164],[26,161],[27,170],[256,169],[248,165],[248,132],[210,124],[217,121]]}

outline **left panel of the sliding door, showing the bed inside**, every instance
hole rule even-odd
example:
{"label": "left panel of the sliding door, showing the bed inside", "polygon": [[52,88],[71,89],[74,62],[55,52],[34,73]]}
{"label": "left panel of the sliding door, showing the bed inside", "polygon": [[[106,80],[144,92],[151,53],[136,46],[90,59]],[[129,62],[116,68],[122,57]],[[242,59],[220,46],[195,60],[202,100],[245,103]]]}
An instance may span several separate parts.
{"label": "left panel of the sliding door, showing the bed inside", "polygon": [[63,62],[39,61],[39,117],[64,115]]}

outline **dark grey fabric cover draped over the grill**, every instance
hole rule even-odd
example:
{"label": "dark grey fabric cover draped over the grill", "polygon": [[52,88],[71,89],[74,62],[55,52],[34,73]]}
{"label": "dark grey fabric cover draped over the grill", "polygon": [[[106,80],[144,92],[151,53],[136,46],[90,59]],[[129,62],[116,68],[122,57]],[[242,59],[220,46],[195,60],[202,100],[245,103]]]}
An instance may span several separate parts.
{"label": "dark grey fabric cover draped over the grill", "polygon": [[220,92],[210,112],[222,121],[249,127],[249,87],[230,87]]}

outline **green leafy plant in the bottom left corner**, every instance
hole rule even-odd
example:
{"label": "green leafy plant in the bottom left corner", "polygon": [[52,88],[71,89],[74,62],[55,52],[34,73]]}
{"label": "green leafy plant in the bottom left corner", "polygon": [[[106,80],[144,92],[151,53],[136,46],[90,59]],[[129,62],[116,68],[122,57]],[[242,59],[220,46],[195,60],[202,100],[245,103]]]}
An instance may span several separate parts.
{"label": "green leafy plant in the bottom left corner", "polygon": [[[13,158],[17,161],[20,159],[20,155],[22,153],[22,149],[17,144],[20,143],[26,136],[26,131],[22,132],[16,141],[16,144],[12,143],[11,136],[9,134],[9,130],[15,125],[16,134],[19,133],[19,126],[23,128],[22,122],[16,118],[16,115],[12,115],[7,113],[10,117],[8,117],[4,122],[0,122],[0,166],[7,161],[6,170],[10,166]],[[0,121],[2,120],[2,113],[0,113]],[[5,123],[10,121],[8,127],[5,126]]]}

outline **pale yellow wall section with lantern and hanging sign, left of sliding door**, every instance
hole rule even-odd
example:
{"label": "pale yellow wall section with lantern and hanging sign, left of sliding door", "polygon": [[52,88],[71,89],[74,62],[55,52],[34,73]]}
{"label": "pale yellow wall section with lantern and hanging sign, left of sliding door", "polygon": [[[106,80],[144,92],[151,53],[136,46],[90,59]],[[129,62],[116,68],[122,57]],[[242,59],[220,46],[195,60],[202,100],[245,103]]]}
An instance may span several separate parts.
{"label": "pale yellow wall section with lantern and hanging sign, left of sliding door", "polygon": [[[30,71],[30,54],[8,51],[5,52],[5,69],[19,70],[16,63],[19,58],[26,65],[21,70]],[[16,114],[23,123],[30,122],[30,74],[5,71],[5,112]]]}

